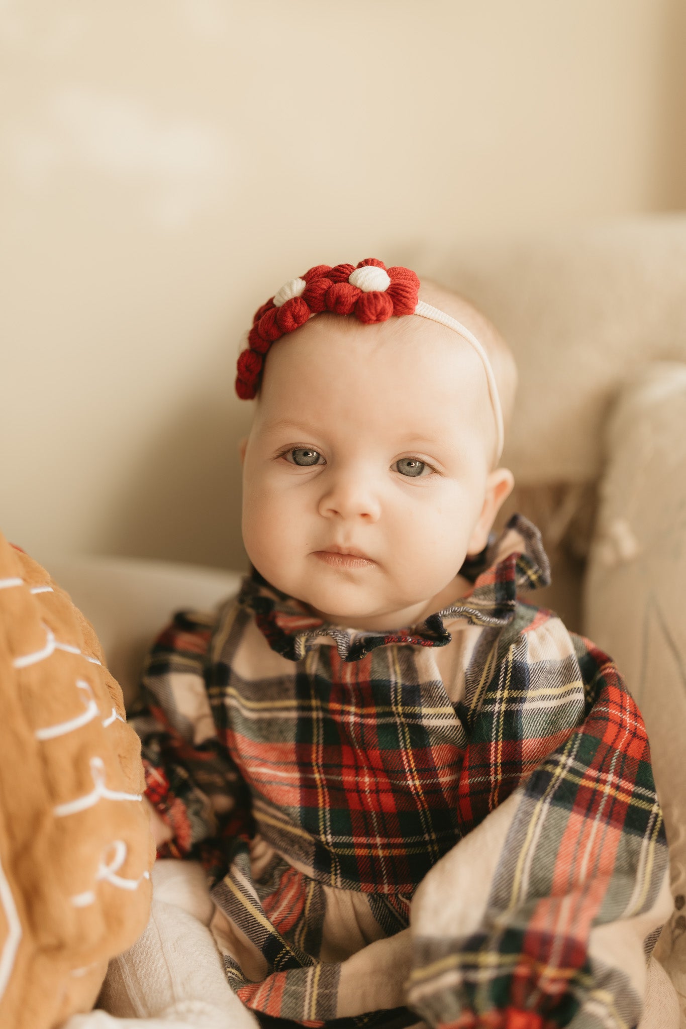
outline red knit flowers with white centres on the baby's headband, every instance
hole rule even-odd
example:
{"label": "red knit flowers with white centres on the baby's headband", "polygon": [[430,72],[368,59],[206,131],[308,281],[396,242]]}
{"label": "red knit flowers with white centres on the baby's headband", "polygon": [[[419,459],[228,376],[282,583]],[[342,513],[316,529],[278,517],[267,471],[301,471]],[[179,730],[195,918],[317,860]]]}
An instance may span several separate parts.
{"label": "red knit flowers with white centres on the baby's headband", "polygon": [[317,264],[299,279],[285,283],[258,308],[248,334],[248,347],[238,361],[236,392],[243,400],[257,393],[269,347],[286,332],[293,332],[314,314],[328,311],[354,315],[365,325],[386,321],[391,315],[411,315],[417,307],[420,280],[408,268],[386,268],[375,257],[353,264]]}

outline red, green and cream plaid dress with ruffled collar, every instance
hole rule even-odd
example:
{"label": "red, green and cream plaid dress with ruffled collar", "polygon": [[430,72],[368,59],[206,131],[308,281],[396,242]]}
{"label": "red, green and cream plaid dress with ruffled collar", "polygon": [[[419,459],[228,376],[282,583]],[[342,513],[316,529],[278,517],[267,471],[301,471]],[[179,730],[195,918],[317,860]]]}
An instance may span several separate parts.
{"label": "red, green and cream plaid dress with ruffled collar", "polygon": [[640,712],[606,654],[517,599],[549,580],[529,522],[462,574],[466,596],[393,634],[325,624],[256,571],[177,614],[135,719],[174,832],[158,854],[204,862],[256,1013],[628,1029],[671,910]]}

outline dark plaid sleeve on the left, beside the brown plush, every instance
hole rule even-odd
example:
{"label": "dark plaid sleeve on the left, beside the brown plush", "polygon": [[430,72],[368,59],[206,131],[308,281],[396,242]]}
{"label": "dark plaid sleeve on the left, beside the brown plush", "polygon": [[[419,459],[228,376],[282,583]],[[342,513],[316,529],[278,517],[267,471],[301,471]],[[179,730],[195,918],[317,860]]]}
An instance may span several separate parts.
{"label": "dark plaid sleeve on the left, beside the brown plush", "polygon": [[221,842],[249,829],[245,782],[220,741],[206,674],[217,614],[181,611],[155,640],[133,724],[141,737],[145,795],[171,826],[159,857],[193,857],[220,874]]}

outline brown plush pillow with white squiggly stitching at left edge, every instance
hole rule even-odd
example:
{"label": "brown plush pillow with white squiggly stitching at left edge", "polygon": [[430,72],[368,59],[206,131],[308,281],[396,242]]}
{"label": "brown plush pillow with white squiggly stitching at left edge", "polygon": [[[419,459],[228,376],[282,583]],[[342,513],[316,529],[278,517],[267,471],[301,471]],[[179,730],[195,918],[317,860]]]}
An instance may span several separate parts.
{"label": "brown plush pillow with white squiggly stitching at left edge", "polygon": [[140,745],[119,686],[87,658],[103,661],[91,625],[0,534],[3,1029],[52,1029],[89,1010],[108,960],[149,914]]}

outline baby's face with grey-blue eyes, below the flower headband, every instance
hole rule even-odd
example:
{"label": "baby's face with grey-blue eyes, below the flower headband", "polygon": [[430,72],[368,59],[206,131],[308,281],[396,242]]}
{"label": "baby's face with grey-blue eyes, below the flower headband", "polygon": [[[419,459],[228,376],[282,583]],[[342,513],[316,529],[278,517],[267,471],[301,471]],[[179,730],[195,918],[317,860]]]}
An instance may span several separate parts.
{"label": "baby's face with grey-blue eyes, below the flower headband", "polygon": [[313,318],[266,361],[244,457],[250,560],[327,620],[411,625],[485,544],[495,431],[457,333]]}

